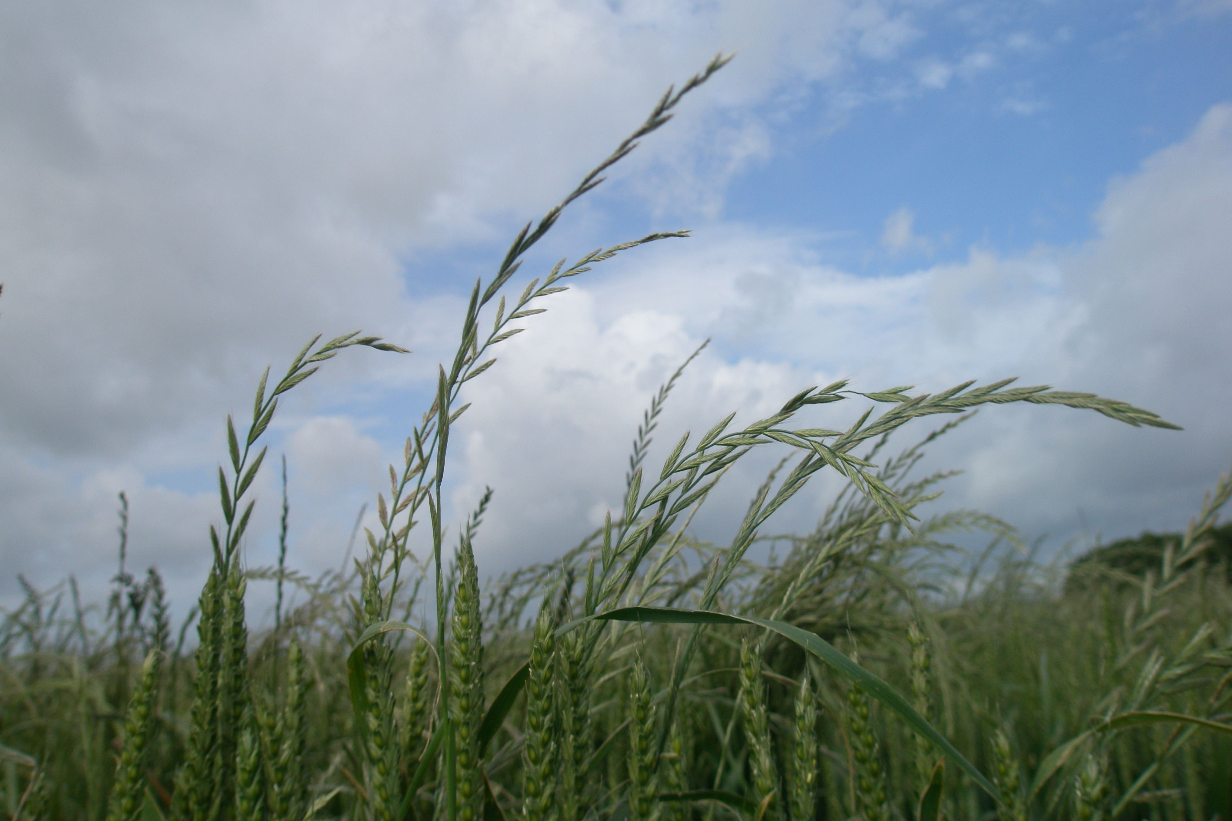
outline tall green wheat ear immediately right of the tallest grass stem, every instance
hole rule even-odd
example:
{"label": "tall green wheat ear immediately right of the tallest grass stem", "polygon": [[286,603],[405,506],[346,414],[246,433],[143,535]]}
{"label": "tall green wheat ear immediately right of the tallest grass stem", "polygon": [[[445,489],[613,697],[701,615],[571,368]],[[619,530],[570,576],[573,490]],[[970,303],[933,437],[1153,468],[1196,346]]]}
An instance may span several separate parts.
{"label": "tall green wheat ear immediately right of the tallest grass stem", "polygon": [[479,764],[479,725],[483,724],[483,643],[479,618],[479,574],[471,540],[458,550],[457,592],[453,595],[453,652],[450,665],[450,713],[457,732],[458,820],[483,817],[483,772]]}

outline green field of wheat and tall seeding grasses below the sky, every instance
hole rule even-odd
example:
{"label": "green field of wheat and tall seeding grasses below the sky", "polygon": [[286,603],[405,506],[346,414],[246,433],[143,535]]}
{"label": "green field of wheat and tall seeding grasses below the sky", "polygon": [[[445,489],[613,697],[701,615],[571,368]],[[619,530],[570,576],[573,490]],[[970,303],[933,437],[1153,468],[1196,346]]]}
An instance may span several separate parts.
{"label": "green field of wheat and tall seeding grasses below the sky", "polygon": [[[1225,565],[1204,559],[1225,532],[1232,479],[1184,534],[1132,561],[1093,553],[1068,577],[1014,549],[1004,522],[918,513],[946,478],[913,473],[924,448],[978,406],[1055,404],[1172,427],[1125,402],[1013,380],[931,395],[838,382],[743,428],[733,414],[686,433],[650,464],[686,362],[642,420],[622,510],[582,544],[483,590],[472,542],[490,492],[446,544],[442,484],[464,384],[567,278],[685,233],[562,261],[509,298],[522,257],[724,63],[669,90],[476,283],[354,570],[293,571],[285,533],[276,567],[245,566],[240,545],[281,395],[345,348],[402,351],[359,334],[313,340],[272,389],[266,372],[245,431],[228,417],[224,524],[209,531],[213,565],[174,641],[156,571],[137,581],[124,567],[123,497],[105,611],[84,606],[71,580],[26,586],[0,628],[5,817],[1232,817],[1232,597]],[[846,430],[812,427],[812,406],[838,401],[869,410]],[[950,419],[892,455],[898,428],[935,415]],[[731,542],[692,538],[711,489],[764,448],[782,460]],[[848,485],[817,528],[766,535],[772,513],[827,469]],[[429,531],[423,563],[408,547],[414,528]],[[992,572],[977,583],[946,543],[972,529],[992,540],[981,565]],[[768,539],[779,559],[758,565],[748,551]],[[250,633],[246,588],[266,582],[275,627]],[[411,623],[425,590],[435,619]]]}

